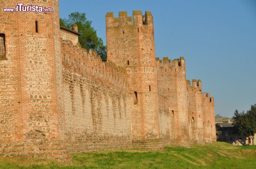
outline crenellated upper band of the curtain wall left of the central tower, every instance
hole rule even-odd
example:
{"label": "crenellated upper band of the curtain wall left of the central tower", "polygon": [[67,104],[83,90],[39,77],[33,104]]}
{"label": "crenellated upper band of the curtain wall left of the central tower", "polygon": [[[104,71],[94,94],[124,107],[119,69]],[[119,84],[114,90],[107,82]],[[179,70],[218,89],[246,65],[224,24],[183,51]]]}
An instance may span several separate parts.
{"label": "crenellated upper band of the curtain wall left of the central tower", "polygon": [[63,40],[63,65],[65,71],[75,72],[97,83],[117,89],[128,90],[126,69],[110,60],[102,62],[95,51],[89,52],[79,43],[74,46],[69,40]]}

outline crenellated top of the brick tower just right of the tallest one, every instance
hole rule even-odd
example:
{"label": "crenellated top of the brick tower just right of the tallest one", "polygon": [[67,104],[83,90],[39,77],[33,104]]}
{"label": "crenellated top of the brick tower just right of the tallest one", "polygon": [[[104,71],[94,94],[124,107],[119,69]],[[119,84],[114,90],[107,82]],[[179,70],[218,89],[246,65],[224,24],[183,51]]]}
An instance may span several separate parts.
{"label": "crenellated top of the brick tower just right of the tallest one", "polygon": [[171,68],[177,67],[185,67],[185,59],[184,57],[180,57],[179,59],[171,60],[168,57],[163,57],[163,60],[156,58],[156,66],[158,68],[166,68],[166,71]]}

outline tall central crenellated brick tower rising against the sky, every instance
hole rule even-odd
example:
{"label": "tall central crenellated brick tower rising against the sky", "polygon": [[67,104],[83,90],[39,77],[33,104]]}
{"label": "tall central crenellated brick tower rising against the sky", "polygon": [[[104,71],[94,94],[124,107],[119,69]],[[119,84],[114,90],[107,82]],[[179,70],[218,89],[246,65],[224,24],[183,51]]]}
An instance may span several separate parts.
{"label": "tall central crenellated brick tower rising against the sky", "polygon": [[158,93],[151,12],[106,14],[107,57],[128,74],[133,140],[158,139]]}

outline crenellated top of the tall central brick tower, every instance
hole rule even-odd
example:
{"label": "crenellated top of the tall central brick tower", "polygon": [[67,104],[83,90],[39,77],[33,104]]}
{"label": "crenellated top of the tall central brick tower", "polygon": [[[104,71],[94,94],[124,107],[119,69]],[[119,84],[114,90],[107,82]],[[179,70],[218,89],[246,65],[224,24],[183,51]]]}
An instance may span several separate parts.
{"label": "crenellated top of the tall central brick tower", "polygon": [[123,27],[127,25],[135,27],[142,25],[153,26],[153,16],[150,11],[145,11],[144,15],[142,15],[142,11],[133,11],[132,15],[132,17],[128,17],[126,11],[121,11],[119,12],[119,17],[114,18],[113,12],[107,12],[106,27]]}

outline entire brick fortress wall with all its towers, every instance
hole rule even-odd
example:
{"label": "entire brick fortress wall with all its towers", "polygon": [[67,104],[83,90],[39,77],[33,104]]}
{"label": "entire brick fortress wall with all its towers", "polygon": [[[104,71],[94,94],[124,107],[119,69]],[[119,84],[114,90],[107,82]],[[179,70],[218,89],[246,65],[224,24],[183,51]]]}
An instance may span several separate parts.
{"label": "entire brick fortress wall with all its towers", "polygon": [[[0,8],[17,2],[0,0]],[[60,30],[58,0],[36,3],[54,12],[0,13],[1,156],[65,160],[215,141],[214,99],[201,81],[186,82],[183,57],[155,58],[150,12],[106,14],[102,62],[77,43],[77,27]]]}

